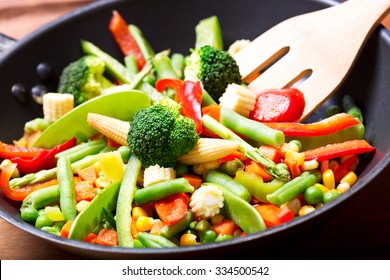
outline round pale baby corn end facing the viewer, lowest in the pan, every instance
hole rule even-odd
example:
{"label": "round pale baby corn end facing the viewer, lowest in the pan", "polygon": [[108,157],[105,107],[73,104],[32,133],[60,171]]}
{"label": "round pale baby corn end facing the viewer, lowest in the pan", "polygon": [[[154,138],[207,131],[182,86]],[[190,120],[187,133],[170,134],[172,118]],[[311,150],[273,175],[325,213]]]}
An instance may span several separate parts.
{"label": "round pale baby corn end facing the viewer, lowest in the pan", "polygon": [[190,207],[196,217],[212,218],[223,207],[223,193],[213,185],[202,185],[191,196]]}

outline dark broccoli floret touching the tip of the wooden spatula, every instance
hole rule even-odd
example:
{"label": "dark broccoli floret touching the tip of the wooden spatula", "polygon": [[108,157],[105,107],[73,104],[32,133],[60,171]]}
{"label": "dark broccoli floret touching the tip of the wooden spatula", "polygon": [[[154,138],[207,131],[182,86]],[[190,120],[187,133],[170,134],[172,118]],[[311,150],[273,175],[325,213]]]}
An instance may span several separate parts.
{"label": "dark broccoli floret touching the tip of the wooden spatula", "polygon": [[187,60],[185,75],[198,79],[215,100],[222,96],[229,84],[241,84],[239,67],[226,51],[205,45],[192,51]]}

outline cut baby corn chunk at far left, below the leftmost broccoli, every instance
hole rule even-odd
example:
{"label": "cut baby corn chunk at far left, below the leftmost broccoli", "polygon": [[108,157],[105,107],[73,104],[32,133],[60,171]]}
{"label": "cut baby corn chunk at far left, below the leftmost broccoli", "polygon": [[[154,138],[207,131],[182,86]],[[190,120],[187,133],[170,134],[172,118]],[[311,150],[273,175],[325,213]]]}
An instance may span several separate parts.
{"label": "cut baby corn chunk at far left, below the leftmost broccoli", "polygon": [[74,107],[74,98],[69,93],[46,93],[43,95],[43,116],[48,121],[55,121]]}

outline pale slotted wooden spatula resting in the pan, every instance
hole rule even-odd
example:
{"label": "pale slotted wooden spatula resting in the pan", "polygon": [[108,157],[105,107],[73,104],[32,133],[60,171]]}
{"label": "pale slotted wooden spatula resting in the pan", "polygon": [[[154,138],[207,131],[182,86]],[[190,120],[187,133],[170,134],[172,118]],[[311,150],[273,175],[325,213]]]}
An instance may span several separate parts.
{"label": "pale slotted wooden spatula resting in the pan", "polygon": [[305,96],[304,120],[339,88],[389,11],[390,0],[348,0],[295,16],[257,37],[234,58],[244,81],[261,73],[249,84],[255,92],[296,85]]}

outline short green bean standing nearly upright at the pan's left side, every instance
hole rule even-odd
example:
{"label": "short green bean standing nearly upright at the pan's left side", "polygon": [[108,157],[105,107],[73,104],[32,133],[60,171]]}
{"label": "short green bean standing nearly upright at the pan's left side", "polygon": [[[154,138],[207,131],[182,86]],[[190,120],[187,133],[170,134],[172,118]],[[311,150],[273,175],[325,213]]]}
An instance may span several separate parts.
{"label": "short green bean standing nearly upright at the pan's left side", "polygon": [[76,194],[72,167],[67,157],[60,157],[57,161],[57,178],[60,187],[60,208],[66,221],[73,221],[77,216]]}

